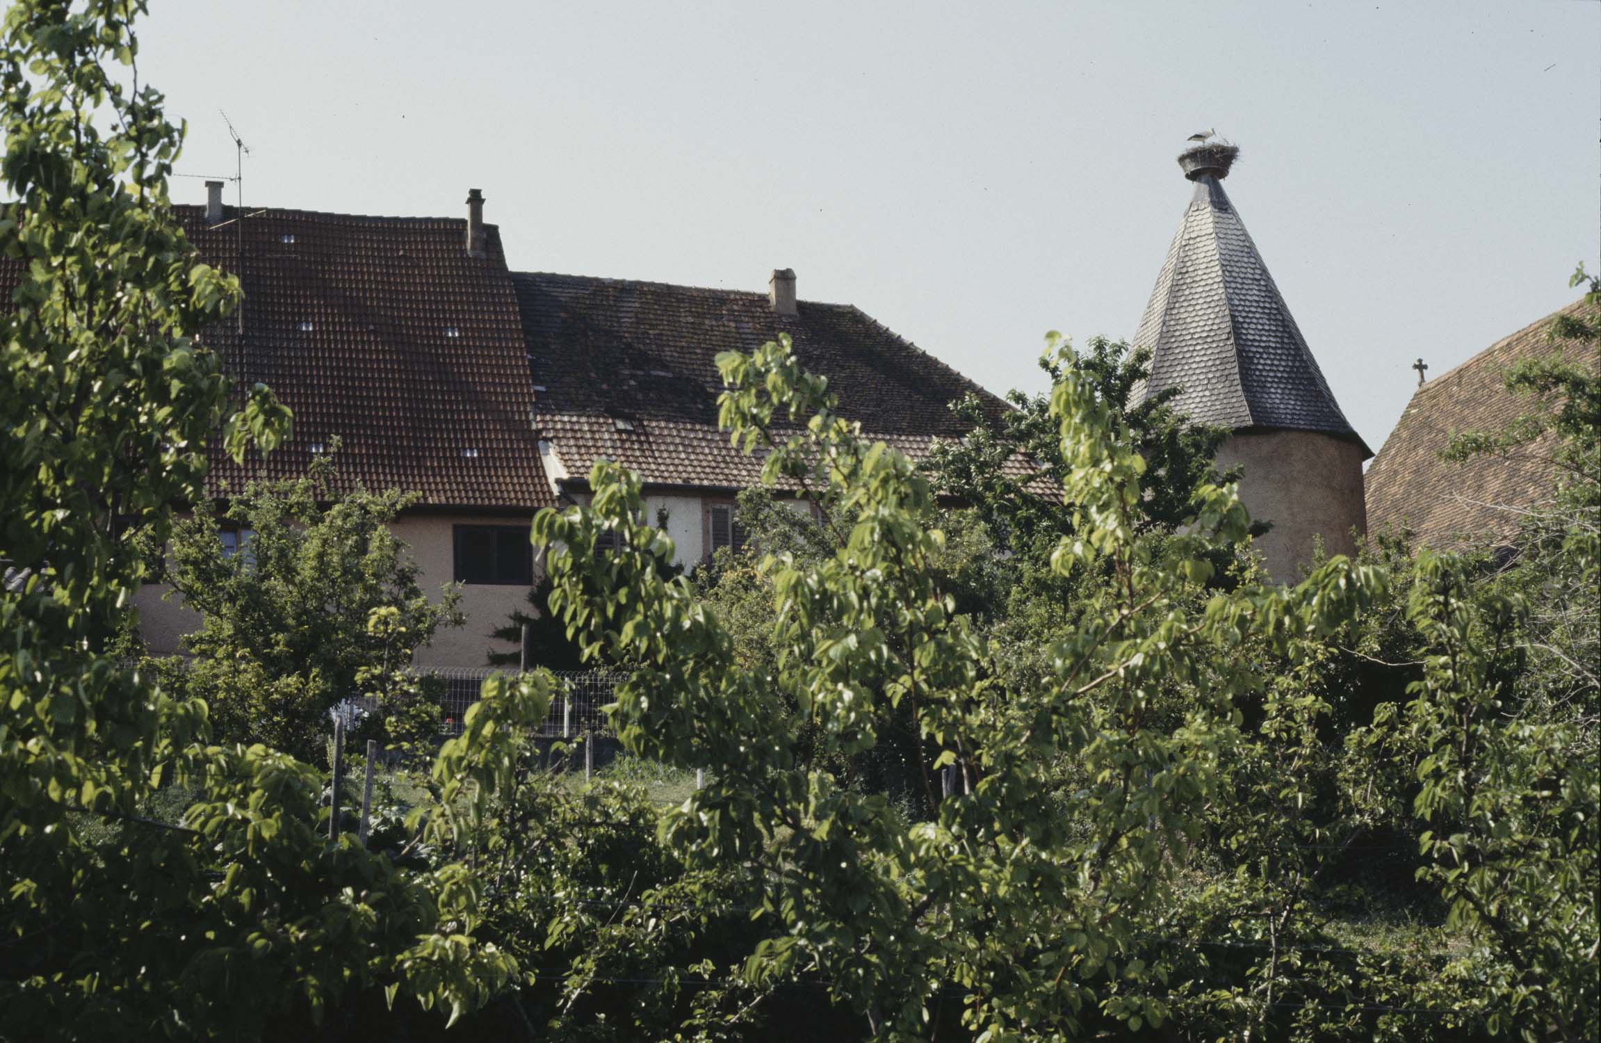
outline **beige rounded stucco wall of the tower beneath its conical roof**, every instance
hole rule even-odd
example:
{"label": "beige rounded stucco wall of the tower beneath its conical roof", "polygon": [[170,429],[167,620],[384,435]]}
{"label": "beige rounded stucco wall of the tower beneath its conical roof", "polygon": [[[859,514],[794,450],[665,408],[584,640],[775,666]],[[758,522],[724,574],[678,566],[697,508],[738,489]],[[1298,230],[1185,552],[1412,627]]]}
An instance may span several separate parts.
{"label": "beige rounded stucco wall of the tower beneath its conical roof", "polygon": [[1313,537],[1321,535],[1330,554],[1350,554],[1351,530],[1367,532],[1362,449],[1354,442],[1314,431],[1242,431],[1223,442],[1217,465],[1244,466],[1239,497],[1252,517],[1273,522],[1257,550],[1279,583],[1300,578]]}

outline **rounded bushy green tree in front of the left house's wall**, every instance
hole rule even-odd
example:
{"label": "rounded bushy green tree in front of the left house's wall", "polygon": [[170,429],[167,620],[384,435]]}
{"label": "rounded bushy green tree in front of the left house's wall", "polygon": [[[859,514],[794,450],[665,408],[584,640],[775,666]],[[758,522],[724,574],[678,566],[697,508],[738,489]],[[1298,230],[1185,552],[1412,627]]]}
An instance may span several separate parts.
{"label": "rounded bushy green tree in front of the left house's wall", "polygon": [[202,618],[184,638],[192,658],[167,676],[205,699],[215,740],[319,761],[339,700],[378,697],[397,723],[432,705],[410,665],[440,626],[461,625],[459,591],[429,599],[391,532],[415,501],[339,492],[335,455],[299,479],[251,482],[221,516],[178,522],[165,578]]}

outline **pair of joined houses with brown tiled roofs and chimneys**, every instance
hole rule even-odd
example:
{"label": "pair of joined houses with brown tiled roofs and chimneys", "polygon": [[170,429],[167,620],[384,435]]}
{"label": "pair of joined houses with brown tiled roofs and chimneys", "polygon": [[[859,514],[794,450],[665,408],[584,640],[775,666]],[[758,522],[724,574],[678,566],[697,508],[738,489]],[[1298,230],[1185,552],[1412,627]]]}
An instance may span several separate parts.
{"label": "pair of joined houses with brown tiled roofs and chimneys", "polygon": [[[722,351],[788,333],[844,415],[914,457],[965,434],[951,401],[1007,409],[860,309],[799,300],[788,269],[765,293],[514,272],[477,191],[456,219],[240,213],[221,183],[208,191],[178,218],[202,258],[240,277],[243,304],[203,340],[295,413],[266,461],[218,455],[210,492],[303,474],[335,439],[341,481],[418,492],[395,534],[424,590],[463,585],[467,618],[419,652],[424,666],[504,650],[488,634],[527,604],[533,514],[583,500],[600,457],[642,476],[685,564],[738,537],[733,497],[759,461],[717,429]],[[195,625],[167,593],[138,601],[157,654]]]}

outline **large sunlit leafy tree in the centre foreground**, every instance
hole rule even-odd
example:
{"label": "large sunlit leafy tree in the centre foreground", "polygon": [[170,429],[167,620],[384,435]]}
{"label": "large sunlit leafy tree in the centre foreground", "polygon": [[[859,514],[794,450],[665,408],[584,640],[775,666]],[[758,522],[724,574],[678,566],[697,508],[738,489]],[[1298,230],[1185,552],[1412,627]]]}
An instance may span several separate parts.
{"label": "large sunlit leafy tree in the centre foreground", "polygon": [[[809,984],[884,1038],[945,1016],[991,1038],[1166,1017],[1166,998],[1134,987],[1146,966],[1126,956],[1218,796],[1234,699],[1260,686],[1236,650],[1255,636],[1282,654],[1332,631],[1377,577],[1335,559],[1295,590],[1206,593],[1218,543],[1246,535],[1238,497],[1201,485],[1185,532],[1142,532],[1145,460],[1116,404],[1061,362],[1052,417],[1076,526],[1052,567],[1105,566],[1114,582],[1093,590],[1082,626],[1053,636],[1037,686],[1009,686],[935,578],[929,481],[837,417],[788,343],[719,359],[724,425],[764,453],[764,479],[849,519],[828,556],[762,564],[775,670],[743,670],[696,590],[663,577],[672,546],[639,524],[637,477],[597,465],[591,505],[535,519],[552,607],[591,650],[640,663],[618,692],[624,743],[712,769],[661,830],[692,873],[736,862],[756,876],[772,937],[725,964],[730,982]],[[602,535],[620,550],[597,558]],[[1190,699],[1159,713],[1170,684]],[[929,809],[913,820],[834,769],[903,719]],[[949,796],[935,782],[946,766],[961,780]]]}

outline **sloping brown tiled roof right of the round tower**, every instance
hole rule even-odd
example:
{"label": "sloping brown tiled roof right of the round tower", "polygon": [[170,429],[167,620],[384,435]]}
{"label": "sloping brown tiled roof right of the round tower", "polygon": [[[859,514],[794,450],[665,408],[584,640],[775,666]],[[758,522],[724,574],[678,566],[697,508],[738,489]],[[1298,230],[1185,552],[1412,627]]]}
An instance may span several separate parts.
{"label": "sloping brown tiled roof right of the round tower", "polygon": [[[1551,445],[1540,439],[1511,453],[1447,463],[1439,452],[1459,431],[1495,433],[1531,410],[1532,401],[1507,389],[1507,367],[1555,351],[1551,320],[1585,312],[1585,303],[1534,322],[1495,341],[1462,365],[1412,393],[1412,401],[1367,468],[1367,526],[1410,526],[1434,546],[1460,537],[1500,538],[1518,527],[1518,508],[1553,495]],[[1580,348],[1582,349],[1582,348]],[[1591,360],[1596,346],[1588,346]]]}

